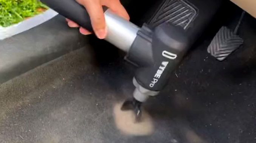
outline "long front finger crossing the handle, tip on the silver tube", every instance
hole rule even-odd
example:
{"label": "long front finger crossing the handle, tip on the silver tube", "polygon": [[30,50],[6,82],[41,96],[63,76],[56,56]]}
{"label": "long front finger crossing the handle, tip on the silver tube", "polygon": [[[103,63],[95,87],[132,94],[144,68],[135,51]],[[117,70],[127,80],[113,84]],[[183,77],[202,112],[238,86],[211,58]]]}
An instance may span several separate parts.
{"label": "long front finger crossing the handle, tip on the silver tube", "polygon": [[85,6],[93,26],[93,30],[99,39],[106,38],[107,30],[104,12],[100,0],[77,0]]}

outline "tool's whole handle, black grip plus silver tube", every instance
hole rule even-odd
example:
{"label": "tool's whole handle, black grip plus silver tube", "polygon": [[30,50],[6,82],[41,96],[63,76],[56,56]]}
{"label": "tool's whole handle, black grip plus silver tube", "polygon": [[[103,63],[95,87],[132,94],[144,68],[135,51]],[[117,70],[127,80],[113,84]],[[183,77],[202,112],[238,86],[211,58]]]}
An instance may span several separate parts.
{"label": "tool's whole handle, black grip plus silver tube", "polygon": [[[88,12],[85,7],[75,0],[41,0],[41,2],[45,3],[45,5],[58,12],[60,15],[93,32]],[[103,7],[103,10],[108,29],[105,40],[115,45],[117,48],[128,52],[137,36],[139,27],[114,14],[106,7]]]}

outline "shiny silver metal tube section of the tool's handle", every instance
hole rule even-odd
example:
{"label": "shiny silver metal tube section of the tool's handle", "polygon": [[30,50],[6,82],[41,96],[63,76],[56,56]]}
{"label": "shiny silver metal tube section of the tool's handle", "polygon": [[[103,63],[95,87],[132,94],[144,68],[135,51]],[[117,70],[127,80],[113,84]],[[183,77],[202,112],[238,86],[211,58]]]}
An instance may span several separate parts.
{"label": "shiny silver metal tube section of the tool's handle", "polygon": [[105,11],[105,20],[108,28],[105,40],[128,52],[137,36],[139,27],[114,14],[110,9]]}

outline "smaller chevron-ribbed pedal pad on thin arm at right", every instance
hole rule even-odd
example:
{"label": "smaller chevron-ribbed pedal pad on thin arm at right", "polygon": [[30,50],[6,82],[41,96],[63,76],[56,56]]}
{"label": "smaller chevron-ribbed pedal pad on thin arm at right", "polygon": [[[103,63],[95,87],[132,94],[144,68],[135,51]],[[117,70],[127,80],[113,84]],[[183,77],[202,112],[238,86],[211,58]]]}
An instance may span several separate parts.
{"label": "smaller chevron-ribbed pedal pad on thin arm at right", "polygon": [[216,57],[217,60],[222,61],[243,43],[244,40],[242,38],[223,26],[211,41],[207,51],[212,56]]}

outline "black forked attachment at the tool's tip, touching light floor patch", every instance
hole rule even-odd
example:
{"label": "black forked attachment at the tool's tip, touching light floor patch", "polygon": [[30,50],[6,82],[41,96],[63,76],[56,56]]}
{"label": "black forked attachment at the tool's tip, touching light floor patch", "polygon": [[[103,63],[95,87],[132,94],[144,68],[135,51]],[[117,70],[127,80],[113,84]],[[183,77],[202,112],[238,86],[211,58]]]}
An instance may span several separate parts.
{"label": "black forked attachment at the tool's tip, touching light floor patch", "polygon": [[137,101],[135,98],[127,99],[125,102],[123,102],[121,110],[122,111],[133,110],[136,116],[136,119],[135,119],[136,122],[140,122],[141,116],[142,116],[141,105],[142,105],[142,102]]}

